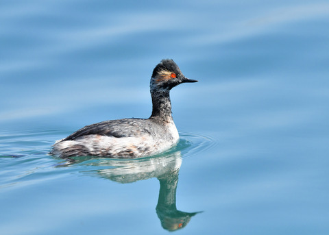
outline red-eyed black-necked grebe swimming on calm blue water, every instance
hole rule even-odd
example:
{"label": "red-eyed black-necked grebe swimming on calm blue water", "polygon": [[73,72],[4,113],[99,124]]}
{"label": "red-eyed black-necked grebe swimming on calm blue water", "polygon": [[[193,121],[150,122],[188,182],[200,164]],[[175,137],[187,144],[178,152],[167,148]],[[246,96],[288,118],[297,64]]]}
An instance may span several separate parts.
{"label": "red-eyed black-necked grebe swimming on calm blue water", "polygon": [[153,104],[149,119],[120,119],[87,125],[62,140],[56,141],[51,154],[138,158],[160,153],[178,143],[179,135],[171,116],[171,88],[186,78],[173,60],[162,60],[151,77]]}

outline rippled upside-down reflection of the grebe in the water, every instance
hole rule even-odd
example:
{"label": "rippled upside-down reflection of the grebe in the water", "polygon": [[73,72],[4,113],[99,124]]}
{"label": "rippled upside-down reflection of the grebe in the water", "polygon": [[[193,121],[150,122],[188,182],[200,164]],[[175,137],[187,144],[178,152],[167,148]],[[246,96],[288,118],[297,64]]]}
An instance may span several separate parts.
{"label": "rippled upside-down reflection of the grebe in the water", "polygon": [[[68,166],[91,159],[93,158],[70,158],[58,166]],[[96,171],[97,175],[121,184],[156,177],[160,182],[156,214],[158,214],[161,225],[165,230],[175,231],[182,229],[189,223],[191,217],[198,213],[182,212],[176,208],[178,173],[182,164],[180,151],[153,158],[134,160],[98,158],[97,161],[89,162],[88,164],[108,166],[106,169]]]}

